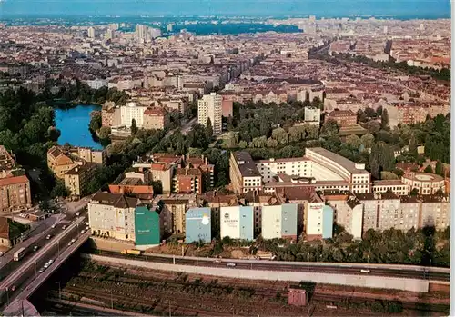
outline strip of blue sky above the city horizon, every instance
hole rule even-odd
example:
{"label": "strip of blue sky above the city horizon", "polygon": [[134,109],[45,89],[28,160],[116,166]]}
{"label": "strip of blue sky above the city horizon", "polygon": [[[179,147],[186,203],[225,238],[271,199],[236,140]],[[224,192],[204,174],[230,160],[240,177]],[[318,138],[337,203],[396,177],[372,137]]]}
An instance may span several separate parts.
{"label": "strip of blue sky above the city horizon", "polygon": [[11,15],[394,15],[450,18],[450,0],[0,0]]}

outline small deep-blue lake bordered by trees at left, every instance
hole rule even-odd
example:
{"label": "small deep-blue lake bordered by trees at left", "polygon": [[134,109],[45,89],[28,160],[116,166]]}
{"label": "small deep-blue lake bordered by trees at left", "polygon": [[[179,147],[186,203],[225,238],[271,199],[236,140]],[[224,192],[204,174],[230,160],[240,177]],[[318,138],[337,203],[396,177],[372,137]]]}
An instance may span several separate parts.
{"label": "small deep-blue lake bordered by trees at left", "polygon": [[86,146],[102,149],[103,146],[95,142],[92,134],[88,131],[90,113],[101,110],[98,105],[78,105],[76,108],[62,110],[56,109],[56,127],[62,133],[58,138],[58,144],[71,144],[74,146]]}

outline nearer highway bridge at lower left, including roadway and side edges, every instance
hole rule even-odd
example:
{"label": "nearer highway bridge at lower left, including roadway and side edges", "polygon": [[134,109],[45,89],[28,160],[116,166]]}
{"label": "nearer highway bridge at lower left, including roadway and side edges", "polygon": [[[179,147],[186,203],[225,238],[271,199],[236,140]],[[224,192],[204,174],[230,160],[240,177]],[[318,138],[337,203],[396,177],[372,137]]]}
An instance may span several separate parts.
{"label": "nearer highway bridge at lower left, including roadway and side edges", "polygon": [[[61,233],[52,238],[50,243],[38,250],[33,256],[11,272],[0,282],[0,301],[5,316],[17,316],[22,305],[39,287],[59,268],[66,259],[86,242],[90,233],[81,233],[85,228],[85,217],[79,217]],[[76,241],[70,243],[73,239]],[[53,261],[47,268],[45,264]]]}

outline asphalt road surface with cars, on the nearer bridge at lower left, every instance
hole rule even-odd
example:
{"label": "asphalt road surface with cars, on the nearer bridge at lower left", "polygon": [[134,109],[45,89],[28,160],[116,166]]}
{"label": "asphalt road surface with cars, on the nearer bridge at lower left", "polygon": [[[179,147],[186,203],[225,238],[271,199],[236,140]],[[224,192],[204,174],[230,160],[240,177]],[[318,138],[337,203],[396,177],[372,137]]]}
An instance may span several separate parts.
{"label": "asphalt road surface with cars, on the nearer bridge at lower left", "polygon": [[68,243],[73,238],[76,238],[80,234],[80,231],[85,228],[83,224],[85,222],[86,217],[79,217],[66,230],[63,230],[45,243],[41,249],[38,249],[38,251],[19,262],[20,265],[0,282],[0,300],[2,305],[12,302],[17,294],[24,291],[35,280],[39,274],[39,270],[45,263],[50,259],[56,260],[59,254],[65,252]]}

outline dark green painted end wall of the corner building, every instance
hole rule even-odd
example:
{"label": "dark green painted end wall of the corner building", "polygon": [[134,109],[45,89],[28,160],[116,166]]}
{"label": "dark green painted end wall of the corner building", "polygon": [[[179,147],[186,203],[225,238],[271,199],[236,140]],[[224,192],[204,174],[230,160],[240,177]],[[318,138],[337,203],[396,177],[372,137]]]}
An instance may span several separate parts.
{"label": "dark green painted end wall of the corner building", "polygon": [[159,244],[159,214],[155,210],[149,210],[147,206],[136,207],[135,233],[136,245]]}

